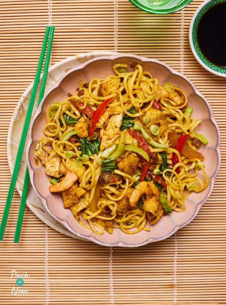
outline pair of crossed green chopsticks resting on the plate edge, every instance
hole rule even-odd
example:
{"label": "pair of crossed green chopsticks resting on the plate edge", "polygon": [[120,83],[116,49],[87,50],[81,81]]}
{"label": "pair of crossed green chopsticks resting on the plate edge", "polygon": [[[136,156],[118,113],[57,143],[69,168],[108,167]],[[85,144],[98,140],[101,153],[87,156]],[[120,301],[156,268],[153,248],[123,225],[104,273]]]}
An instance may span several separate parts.
{"label": "pair of crossed green chopsticks resting on the plate edge", "polygon": [[[15,189],[16,179],[17,179],[17,175],[19,172],[19,168],[20,168],[20,162],[21,162],[21,158],[22,158],[22,154],[23,154],[26,137],[27,137],[28,127],[30,124],[30,117],[32,114],[33,106],[34,106],[34,100],[35,100],[36,92],[38,89],[38,82],[40,79],[41,69],[43,66],[45,51],[46,51],[46,47],[47,47],[47,43],[48,43],[46,57],[45,57],[45,65],[44,65],[43,76],[42,76],[41,87],[40,87],[40,93],[39,93],[39,98],[38,98],[38,105],[44,96],[46,78],[47,78],[47,74],[48,74],[49,60],[50,60],[51,49],[52,49],[52,40],[53,40],[54,29],[55,29],[54,26],[51,26],[51,27],[47,26],[46,30],[45,30],[45,36],[44,36],[44,40],[43,40],[43,44],[42,44],[42,48],[41,48],[40,58],[38,61],[38,67],[37,67],[37,71],[36,71],[35,78],[34,78],[34,84],[33,84],[33,88],[32,88],[31,95],[30,95],[30,101],[29,101],[28,108],[27,108],[27,114],[25,117],[23,131],[22,131],[22,135],[21,135],[21,139],[20,139],[20,144],[18,147],[17,155],[16,155],[16,161],[15,161],[15,165],[14,165],[14,169],[13,169],[12,179],[11,179],[10,186],[9,186],[9,193],[8,193],[8,196],[6,199],[5,208],[4,208],[4,212],[3,212],[3,216],[2,216],[2,221],[1,221],[1,225],[0,225],[0,240],[3,239],[3,235],[5,232],[5,226],[6,226],[6,222],[7,222],[8,215],[9,215],[11,201],[13,198],[13,192]],[[24,178],[24,183],[23,183],[23,191],[22,191],[22,196],[21,196],[21,201],[20,201],[20,208],[19,208],[19,213],[18,213],[18,218],[17,218],[17,223],[16,223],[14,242],[19,242],[19,239],[20,239],[20,231],[21,231],[21,226],[22,226],[22,222],[23,222],[23,214],[24,214],[24,208],[25,208],[25,203],[26,203],[26,198],[27,198],[27,190],[28,190],[28,186],[29,186],[29,181],[30,181],[29,172],[28,172],[28,168],[26,168],[26,173],[25,173],[25,178]]]}

